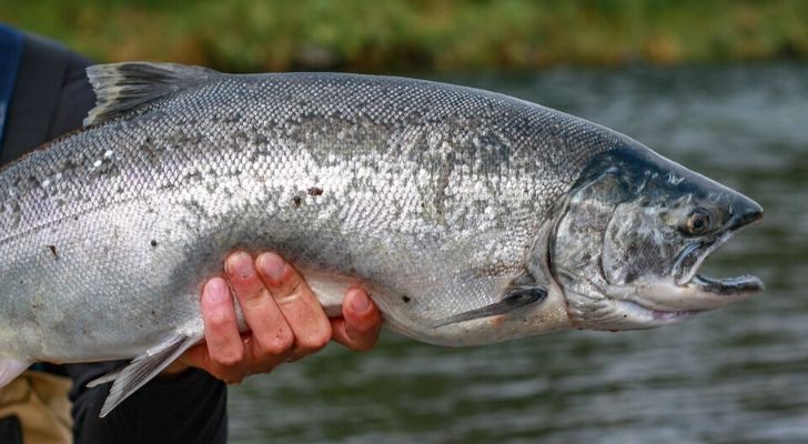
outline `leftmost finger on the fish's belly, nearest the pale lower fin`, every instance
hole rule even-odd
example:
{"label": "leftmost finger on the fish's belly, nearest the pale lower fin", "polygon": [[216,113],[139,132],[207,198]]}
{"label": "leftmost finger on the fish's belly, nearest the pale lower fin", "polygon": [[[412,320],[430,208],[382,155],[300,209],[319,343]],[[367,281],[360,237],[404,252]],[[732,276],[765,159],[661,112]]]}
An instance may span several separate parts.
{"label": "leftmost finger on the fish's belly, nearest the pale lower fin", "polygon": [[244,346],[226,282],[221,278],[208,281],[202,289],[200,302],[208,344],[208,356],[203,366],[221,380],[240,382],[245,374]]}

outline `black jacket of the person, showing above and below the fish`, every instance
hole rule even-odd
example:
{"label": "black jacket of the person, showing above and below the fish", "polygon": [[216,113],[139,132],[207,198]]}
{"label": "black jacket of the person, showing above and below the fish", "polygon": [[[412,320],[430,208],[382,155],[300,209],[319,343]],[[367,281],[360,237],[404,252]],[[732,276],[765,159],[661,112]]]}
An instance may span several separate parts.
{"label": "black jacket of the person, showing above and below the fish", "polygon": [[[95,101],[84,74],[90,63],[54,42],[24,34],[0,139],[0,164],[81,127]],[[70,400],[77,444],[226,442],[226,385],[196,369],[170,380],[152,380],[105,418],[99,418],[111,384],[94,389],[85,385],[123,364],[118,361],[46,367],[53,373],[67,371],[73,381]],[[11,421],[3,425],[14,424]]]}

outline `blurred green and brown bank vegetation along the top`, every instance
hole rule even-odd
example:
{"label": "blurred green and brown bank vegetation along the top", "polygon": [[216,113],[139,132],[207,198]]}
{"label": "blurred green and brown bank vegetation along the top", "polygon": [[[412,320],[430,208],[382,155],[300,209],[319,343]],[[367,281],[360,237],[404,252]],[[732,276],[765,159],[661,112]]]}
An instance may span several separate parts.
{"label": "blurred green and brown bank vegetation along the top", "polygon": [[808,58],[802,0],[0,0],[0,21],[99,61],[228,71]]}

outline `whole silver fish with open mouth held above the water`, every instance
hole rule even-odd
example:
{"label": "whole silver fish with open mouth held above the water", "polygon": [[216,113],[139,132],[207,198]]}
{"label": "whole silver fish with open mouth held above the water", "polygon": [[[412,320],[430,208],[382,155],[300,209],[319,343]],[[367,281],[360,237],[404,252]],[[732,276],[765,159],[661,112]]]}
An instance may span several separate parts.
{"label": "whole silver fish with open mouth held above the water", "polygon": [[679,322],[762,289],[697,274],[762,216],[585,120],[430,81],[88,70],[85,129],[0,173],[0,383],[134,357],[102,415],[203,337],[201,284],[272,250],[329,313],[472,345]]}

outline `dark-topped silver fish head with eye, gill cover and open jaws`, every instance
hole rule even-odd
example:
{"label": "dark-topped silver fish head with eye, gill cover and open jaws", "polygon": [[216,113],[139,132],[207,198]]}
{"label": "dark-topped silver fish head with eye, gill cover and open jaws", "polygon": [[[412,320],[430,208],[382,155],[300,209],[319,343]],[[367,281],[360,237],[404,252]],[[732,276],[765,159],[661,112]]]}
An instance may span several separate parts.
{"label": "dark-topped silver fish head with eye, gill cover and open jaws", "polygon": [[661,326],[764,287],[751,275],[698,273],[710,253],[761,220],[760,205],[644,147],[597,155],[564,206],[548,256],[577,327]]}

